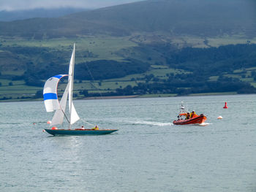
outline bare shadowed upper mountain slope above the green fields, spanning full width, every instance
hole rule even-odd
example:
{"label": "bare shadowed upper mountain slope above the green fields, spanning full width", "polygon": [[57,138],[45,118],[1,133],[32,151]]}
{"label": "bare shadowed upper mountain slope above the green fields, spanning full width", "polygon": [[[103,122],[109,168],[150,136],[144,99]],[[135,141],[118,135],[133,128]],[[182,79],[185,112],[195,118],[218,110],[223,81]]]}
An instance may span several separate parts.
{"label": "bare shadowed upper mountain slope above the green fields, spanning full width", "polygon": [[253,0],[149,0],[61,18],[34,18],[0,23],[1,36],[77,37],[81,35],[127,36],[164,33],[217,37],[255,35]]}

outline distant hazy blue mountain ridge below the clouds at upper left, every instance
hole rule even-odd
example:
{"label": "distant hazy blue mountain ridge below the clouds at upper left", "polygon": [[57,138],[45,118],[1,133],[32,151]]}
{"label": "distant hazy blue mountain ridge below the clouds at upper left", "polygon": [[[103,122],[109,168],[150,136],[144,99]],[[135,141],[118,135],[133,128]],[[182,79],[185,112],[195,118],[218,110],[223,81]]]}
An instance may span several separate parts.
{"label": "distant hazy blue mountain ridge below the clouds at upper left", "polygon": [[59,18],[74,12],[85,11],[79,8],[57,8],[57,9],[27,9],[15,11],[0,11],[0,21],[25,20],[29,18]]}

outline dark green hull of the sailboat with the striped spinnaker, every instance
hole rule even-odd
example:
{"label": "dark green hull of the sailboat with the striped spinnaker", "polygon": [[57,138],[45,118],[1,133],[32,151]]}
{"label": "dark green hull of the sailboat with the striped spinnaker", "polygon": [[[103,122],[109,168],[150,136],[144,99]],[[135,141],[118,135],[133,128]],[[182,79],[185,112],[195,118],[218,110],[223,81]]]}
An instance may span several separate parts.
{"label": "dark green hull of the sailboat with the striped spinnaker", "polygon": [[73,130],[73,129],[45,129],[48,134],[52,134],[53,136],[57,135],[99,135],[99,134],[111,134],[115,131],[118,131],[118,129],[101,129],[101,130],[93,130],[93,129],[79,129],[79,130]]}

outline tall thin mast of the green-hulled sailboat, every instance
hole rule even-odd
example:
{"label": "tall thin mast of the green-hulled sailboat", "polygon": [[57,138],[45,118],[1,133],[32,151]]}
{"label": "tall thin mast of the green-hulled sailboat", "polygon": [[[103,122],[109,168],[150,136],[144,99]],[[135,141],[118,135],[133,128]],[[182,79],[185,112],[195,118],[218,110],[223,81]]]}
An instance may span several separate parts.
{"label": "tall thin mast of the green-hulled sailboat", "polygon": [[[73,48],[73,53],[72,53],[72,61],[70,63],[72,64],[72,69],[70,69],[70,64],[69,64],[69,83],[71,87],[69,87],[69,109],[70,109],[70,116],[69,116],[69,129],[72,128],[71,124],[71,117],[72,117],[72,101],[73,101],[73,84],[74,84],[74,66],[75,66],[75,43],[74,43],[74,48]],[[71,70],[71,71],[70,71]]]}

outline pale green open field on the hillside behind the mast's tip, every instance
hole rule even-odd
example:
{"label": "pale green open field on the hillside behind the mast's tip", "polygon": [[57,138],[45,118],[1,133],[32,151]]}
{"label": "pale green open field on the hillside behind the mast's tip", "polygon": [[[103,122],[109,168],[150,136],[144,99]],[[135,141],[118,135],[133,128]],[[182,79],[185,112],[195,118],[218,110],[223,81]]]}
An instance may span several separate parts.
{"label": "pale green open field on the hillside behind the mast's tip", "polygon": [[12,39],[0,38],[1,47],[45,47],[59,51],[72,51],[74,43],[76,43],[76,61],[78,63],[99,59],[121,60],[122,58],[116,55],[118,50],[138,46],[135,42],[129,41],[127,37],[78,37],[75,39],[43,40],[18,37]]}

